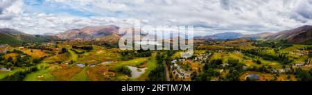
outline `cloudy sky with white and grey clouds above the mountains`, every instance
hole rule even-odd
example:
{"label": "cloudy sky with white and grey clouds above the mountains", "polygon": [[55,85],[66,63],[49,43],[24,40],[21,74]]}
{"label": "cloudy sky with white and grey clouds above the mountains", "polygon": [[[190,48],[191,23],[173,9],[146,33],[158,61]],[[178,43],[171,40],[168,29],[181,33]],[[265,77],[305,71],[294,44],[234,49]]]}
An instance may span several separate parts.
{"label": "cloudy sky with white and grey clouds above the mountains", "polygon": [[312,0],[0,0],[0,28],[31,34],[85,26],[191,25],[195,35],[312,25]]}

